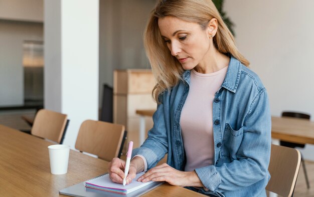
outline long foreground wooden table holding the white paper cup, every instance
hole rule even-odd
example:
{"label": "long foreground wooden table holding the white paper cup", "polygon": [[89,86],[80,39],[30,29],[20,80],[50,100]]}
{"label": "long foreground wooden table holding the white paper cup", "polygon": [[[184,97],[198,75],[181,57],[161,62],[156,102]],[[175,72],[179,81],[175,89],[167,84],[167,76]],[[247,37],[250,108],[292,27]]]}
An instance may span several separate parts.
{"label": "long foreground wooden table holding the white paper cup", "polygon": [[[108,162],[70,150],[68,173],[50,173],[51,142],[0,125],[0,195],[59,196],[59,190],[106,173]],[[143,196],[204,196],[163,184]],[[65,195],[60,195],[65,196]]]}

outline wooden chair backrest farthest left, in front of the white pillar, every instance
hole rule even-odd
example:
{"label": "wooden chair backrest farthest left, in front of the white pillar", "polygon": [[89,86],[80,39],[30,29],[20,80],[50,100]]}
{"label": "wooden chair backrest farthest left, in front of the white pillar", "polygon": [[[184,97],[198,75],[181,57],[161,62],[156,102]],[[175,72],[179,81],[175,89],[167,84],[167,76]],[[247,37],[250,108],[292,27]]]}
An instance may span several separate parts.
{"label": "wooden chair backrest farthest left, in front of the white pillar", "polygon": [[66,114],[41,109],[35,116],[31,134],[60,143],[66,123]]}

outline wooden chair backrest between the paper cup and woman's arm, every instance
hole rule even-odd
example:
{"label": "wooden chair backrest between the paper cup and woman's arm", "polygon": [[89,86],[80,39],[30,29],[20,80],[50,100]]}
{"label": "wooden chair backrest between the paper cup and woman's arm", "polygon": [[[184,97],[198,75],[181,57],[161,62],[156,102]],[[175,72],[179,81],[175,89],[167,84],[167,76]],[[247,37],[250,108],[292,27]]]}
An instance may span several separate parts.
{"label": "wooden chair backrest between the paper cup and woman's arm", "polygon": [[97,155],[106,161],[117,157],[124,126],[103,121],[85,120],[80,127],[75,148]]}

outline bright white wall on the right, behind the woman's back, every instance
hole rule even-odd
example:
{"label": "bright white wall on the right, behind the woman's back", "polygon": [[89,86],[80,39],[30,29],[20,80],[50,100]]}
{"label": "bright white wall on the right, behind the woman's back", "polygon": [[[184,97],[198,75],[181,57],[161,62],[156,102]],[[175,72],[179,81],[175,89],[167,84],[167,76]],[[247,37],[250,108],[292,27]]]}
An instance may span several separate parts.
{"label": "bright white wall on the right, behind the woman's back", "polygon": [[[237,46],[262,79],[274,116],[291,110],[314,120],[313,8],[312,0],[225,1]],[[306,145],[305,159],[314,160],[313,151]]]}

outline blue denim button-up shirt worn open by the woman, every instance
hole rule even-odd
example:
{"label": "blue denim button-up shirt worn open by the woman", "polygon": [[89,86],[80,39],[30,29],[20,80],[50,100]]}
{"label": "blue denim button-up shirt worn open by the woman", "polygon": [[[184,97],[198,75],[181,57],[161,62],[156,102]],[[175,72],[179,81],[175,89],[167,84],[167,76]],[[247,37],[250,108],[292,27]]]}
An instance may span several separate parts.
{"label": "blue denim button-up shirt worn open by the woman", "polygon": [[[152,168],[168,153],[167,163],[184,171],[185,150],[180,116],[189,93],[190,71],[184,81],[160,95],[153,127],[133,156],[145,157]],[[266,89],[259,77],[231,57],[226,77],[213,101],[214,165],[195,169],[202,192],[213,196],[266,196],[270,178],[271,117]]]}

